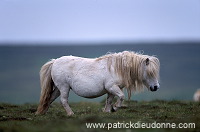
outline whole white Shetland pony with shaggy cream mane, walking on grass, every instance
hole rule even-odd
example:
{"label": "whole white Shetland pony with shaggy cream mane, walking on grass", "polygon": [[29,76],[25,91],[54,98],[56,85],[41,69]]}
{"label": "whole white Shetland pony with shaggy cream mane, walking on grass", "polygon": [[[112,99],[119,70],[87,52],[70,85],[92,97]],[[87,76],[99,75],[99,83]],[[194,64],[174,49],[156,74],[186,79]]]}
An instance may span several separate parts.
{"label": "whole white Shetland pony with shaggy cream mane, walking on grass", "polygon": [[[47,112],[49,105],[61,96],[61,103],[68,115],[73,115],[68,104],[69,91],[81,97],[96,98],[108,94],[104,112],[121,107],[123,88],[130,99],[132,91],[146,86],[151,91],[159,88],[158,58],[124,51],[89,59],[63,56],[44,64],[40,71],[41,96],[36,114]],[[118,100],[113,105],[112,100]]]}

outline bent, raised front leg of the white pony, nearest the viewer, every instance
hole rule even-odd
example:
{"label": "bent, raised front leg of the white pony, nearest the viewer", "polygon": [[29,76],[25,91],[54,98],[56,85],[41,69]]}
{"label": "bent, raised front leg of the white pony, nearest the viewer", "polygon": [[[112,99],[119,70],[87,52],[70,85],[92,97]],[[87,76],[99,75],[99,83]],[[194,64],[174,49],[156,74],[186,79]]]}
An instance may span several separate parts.
{"label": "bent, raised front leg of the white pony, nearest the viewer", "polygon": [[113,85],[110,88],[107,88],[107,91],[118,97],[118,101],[117,101],[117,105],[113,106],[113,109],[116,111],[118,108],[120,108],[122,106],[122,102],[125,98],[124,93],[122,92],[122,90],[117,86],[117,85]]}

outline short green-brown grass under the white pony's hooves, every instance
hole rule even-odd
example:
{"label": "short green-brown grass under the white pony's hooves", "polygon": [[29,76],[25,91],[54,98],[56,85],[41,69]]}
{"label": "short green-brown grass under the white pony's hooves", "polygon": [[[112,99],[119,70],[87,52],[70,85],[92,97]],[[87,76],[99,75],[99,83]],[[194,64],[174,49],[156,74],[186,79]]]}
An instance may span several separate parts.
{"label": "short green-brown grass under the white pony's hooves", "polygon": [[36,104],[0,104],[0,132],[108,131],[88,129],[86,123],[195,123],[195,129],[110,129],[109,131],[200,131],[200,103],[188,101],[129,101],[129,107],[103,113],[104,103],[71,103],[74,116],[67,116],[59,103],[53,103],[45,115],[36,116]]}

